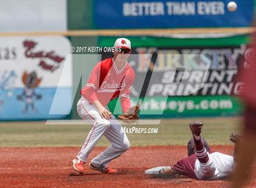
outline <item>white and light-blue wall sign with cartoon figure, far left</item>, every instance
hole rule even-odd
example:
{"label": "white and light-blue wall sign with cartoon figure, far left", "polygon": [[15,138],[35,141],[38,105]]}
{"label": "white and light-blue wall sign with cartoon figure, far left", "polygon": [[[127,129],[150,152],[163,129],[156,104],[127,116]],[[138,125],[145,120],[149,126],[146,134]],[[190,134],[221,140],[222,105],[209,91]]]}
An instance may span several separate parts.
{"label": "white and light-blue wall sign with cartoon figure, far left", "polygon": [[69,114],[70,50],[63,36],[2,37],[0,120],[63,118]]}

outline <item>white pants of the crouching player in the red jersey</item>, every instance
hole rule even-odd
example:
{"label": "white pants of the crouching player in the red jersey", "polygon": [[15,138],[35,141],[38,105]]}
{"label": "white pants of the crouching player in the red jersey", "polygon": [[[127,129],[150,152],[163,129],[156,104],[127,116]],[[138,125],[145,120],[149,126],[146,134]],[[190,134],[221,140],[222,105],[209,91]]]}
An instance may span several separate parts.
{"label": "white pants of the crouching player in the red jersey", "polygon": [[110,120],[101,118],[97,107],[94,106],[94,104],[89,104],[87,99],[83,96],[77,102],[77,112],[80,118],[85,119],[88,123],[93,125],[85,139],[84,145],[77,155],[78,159],[86,162],[88,155],[102,135],[110,141],[111,145],[91,161],[93,166],[106,167],[108,162],[122,155],[129,149],[129,140],[126,133],[121,132],[121,124],[115,116],[112,115]]}

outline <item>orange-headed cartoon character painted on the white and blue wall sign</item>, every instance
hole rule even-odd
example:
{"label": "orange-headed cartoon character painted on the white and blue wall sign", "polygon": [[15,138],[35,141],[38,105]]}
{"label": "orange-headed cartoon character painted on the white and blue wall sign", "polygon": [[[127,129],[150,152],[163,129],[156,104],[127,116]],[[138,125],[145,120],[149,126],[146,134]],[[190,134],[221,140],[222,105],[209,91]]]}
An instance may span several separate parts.
{"label": "orange-headed cartoon character painted on the white and blue wall sign", "polygon": [[18,95],[17,98],[26,102],[23,112],[27,112],[27,110],[29,110],[29,106],[34,112],[37,112],[34,105],[34,99],[41,99],[41,95],[35,93],[35,88],[40,84],[41,78],[37,77],[37,73],[35,71],[31,73],[27,73],[25,71],[22,76],[22,81],[25,87],[23,93]]}

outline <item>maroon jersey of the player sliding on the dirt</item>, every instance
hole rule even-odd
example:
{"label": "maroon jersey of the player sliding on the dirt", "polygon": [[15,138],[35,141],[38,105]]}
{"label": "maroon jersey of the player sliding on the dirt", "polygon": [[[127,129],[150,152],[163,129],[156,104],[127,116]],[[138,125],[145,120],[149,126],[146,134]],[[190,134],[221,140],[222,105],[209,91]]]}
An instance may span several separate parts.
{"label": "maroon jersey of the player sliding on the dirt", "polygon": [[194,163],[196,163],[196,159],[196,155],[194,154],[187,156],[173,165],[172,169],[176,170],[180,175],[196,178],[196,174],[194,173]]}

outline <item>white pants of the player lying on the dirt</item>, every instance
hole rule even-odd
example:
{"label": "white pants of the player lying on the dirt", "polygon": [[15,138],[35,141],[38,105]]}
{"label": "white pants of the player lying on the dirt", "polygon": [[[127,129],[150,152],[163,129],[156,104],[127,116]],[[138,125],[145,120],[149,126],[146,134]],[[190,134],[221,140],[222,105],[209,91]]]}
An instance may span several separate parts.
{"label": "white pants of the player lying on the dirt", "polygon": [[213,152],[209,155],[207,163],[200,163],[196,159],[194,173],[199,180],[218,180],[229,176],[235,169],[235,165],[233,156]]}

